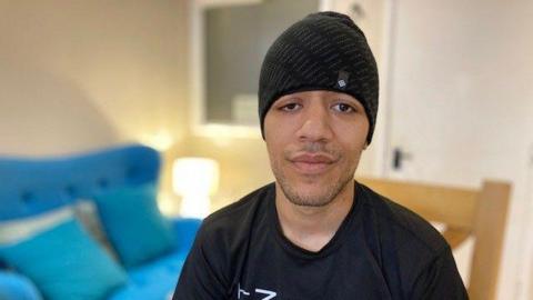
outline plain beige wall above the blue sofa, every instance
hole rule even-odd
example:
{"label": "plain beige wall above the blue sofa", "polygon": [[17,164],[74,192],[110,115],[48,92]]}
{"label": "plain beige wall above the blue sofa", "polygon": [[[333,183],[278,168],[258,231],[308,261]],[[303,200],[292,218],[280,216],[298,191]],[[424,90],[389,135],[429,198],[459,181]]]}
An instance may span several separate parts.
{"label": "plain beige wall above the blue sofa", "polygon": [[185,3],[0,0],[0,152],[182,139]]}

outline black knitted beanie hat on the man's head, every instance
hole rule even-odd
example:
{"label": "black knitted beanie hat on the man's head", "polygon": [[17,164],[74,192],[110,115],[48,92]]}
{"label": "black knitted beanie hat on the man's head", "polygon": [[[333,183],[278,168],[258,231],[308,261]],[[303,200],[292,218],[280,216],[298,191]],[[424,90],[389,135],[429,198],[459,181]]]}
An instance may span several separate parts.
{"label": "black knitted beanie hat on the man's head", "polygon": [[379,79],[374,56],[363,31],[350,17],[311,13],[272,43],[259,79],[259,118],[280,97],[309,90],[330,90],[358,99],[369,118],[366,142],[372,140],[378,114]]}

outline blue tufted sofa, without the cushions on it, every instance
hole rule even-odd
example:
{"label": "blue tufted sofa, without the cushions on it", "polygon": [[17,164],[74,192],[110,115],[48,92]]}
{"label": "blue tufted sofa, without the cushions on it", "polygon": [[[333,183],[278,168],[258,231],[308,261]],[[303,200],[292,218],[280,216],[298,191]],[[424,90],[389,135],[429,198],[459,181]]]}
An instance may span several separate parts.
{"label": "blue tufted sofa, without the cushions on it", "polygon": [[[82,199],[91,201],[108,190],[147,183],[157,187],[160,163],[159,153],[141,144],[58,158],[0,158],[0,226],[76,206]],[[125,283],[104,299],[169,299],[200,222],[169,219],[174,237],[171,251],[141,264],[124,267]],[[139,239],[142,243],[142,237]],[[121,266],[120,261],[118,264]],[[38,284],[0,256],[0,299],[43,298],[47,297]]]}

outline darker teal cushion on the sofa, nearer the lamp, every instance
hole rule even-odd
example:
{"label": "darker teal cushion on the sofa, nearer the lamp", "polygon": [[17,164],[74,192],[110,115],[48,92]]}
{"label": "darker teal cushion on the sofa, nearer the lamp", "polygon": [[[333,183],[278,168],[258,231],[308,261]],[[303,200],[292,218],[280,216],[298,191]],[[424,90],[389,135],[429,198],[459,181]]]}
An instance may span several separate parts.
{"label": "darker teal cushion on the sofa, nearer the lamp", "polygon": [[161,216],[155,196],[153,183],[95,196],[103,229],[127,268],[153,260],[174,247],[170,222]]}

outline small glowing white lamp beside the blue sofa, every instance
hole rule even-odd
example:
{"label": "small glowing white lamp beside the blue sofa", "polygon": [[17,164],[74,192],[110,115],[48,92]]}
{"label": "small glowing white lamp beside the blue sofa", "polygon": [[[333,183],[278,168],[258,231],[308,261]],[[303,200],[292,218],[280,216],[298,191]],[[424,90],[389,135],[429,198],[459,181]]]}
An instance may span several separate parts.
{"label": "small glowing white lamp beside the blue sofa", "polygon": [[182,197],[183,217],[204,218],[219,187],[219,163],[207,158],[180,158],[172,166],[172,188]]}

